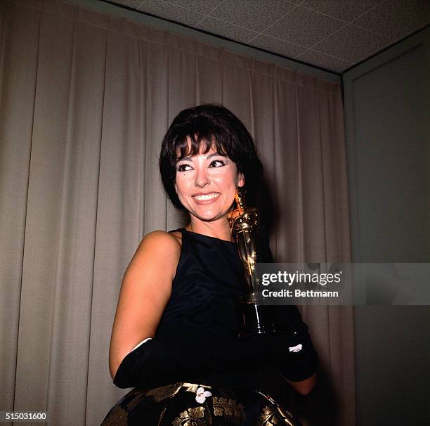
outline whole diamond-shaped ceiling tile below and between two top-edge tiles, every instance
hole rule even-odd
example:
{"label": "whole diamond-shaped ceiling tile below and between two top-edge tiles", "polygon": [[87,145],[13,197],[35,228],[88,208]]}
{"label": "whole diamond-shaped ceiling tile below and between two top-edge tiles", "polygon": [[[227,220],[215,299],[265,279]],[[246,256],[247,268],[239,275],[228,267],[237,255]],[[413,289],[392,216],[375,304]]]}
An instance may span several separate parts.
{"label": "whole diamond-shaped ceiling tile below and between two top-edge tiles", "polygon": [[299,6],[264,33],[299,46],[312,47],[344,25],[344,22]]}

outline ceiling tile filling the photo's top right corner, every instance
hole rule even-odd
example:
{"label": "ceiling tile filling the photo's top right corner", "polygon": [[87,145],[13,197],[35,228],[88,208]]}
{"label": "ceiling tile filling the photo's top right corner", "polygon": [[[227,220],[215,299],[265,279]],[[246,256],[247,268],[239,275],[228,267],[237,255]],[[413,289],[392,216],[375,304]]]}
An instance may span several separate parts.
{"label": "ceiling tile filling the photo's top right corner", "polygon": [[429,0],[390,0],[358,18],[354,24],[395,41],[429,22]]}

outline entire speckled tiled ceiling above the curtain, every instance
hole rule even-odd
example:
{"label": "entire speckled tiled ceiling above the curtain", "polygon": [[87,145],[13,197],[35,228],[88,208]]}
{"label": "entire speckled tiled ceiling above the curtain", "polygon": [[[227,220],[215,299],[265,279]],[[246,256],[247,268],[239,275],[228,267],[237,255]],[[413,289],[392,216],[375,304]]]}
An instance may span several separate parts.
{"label": "entire speckled tiled ceiling above the curtain", "polygon": [[109,0],[341,74],[430,23],[430,0]]}

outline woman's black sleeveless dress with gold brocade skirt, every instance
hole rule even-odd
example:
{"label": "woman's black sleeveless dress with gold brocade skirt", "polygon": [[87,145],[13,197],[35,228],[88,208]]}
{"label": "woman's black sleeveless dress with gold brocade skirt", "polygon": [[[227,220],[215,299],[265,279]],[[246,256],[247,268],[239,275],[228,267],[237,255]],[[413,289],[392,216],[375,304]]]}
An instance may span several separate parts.
{"label": "woman's black sleeveless dress with gold brocade skirt", "polygon": [[[155,338],[188,345],[196,357],[204,356],[200,345],[228,345],[237,335],[238,300],[246,290],[243,266],[235,243],[177,231],[182,233],[181,256]],[[187,382],[136,388],[110,410],[102,426],[299,425],[263,393],[260,378],[257,363],[253,370],[202,371]]]}

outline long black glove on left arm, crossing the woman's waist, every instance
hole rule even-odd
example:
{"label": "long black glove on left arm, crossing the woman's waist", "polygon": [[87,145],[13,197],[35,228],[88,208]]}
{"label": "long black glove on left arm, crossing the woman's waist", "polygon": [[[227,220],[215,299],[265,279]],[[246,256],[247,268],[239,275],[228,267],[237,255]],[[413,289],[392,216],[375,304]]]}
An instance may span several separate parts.
{"label": "long black glove on left arm, crossing the woman's waist", "polygon": [[[306,359],[302,357],[290,359],[290,348],[297,346],[297,337],[256,336],[221,344],[218,348],[199,344],[198,351],[188,345],[148,340],[125,356],[115,375],[114,384],[121,388],[150,389],[190,381],[190,377],[202,374],[247,370],[265,362],[282,363],[282,366],[287,363],[289,368],[294,364],[293,370],[297,374],[299,368],[303,370],[308,367]],[[291,373],[287,371],[286,374],[290,378]]]}

